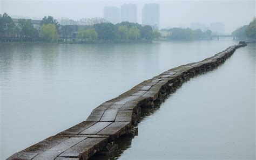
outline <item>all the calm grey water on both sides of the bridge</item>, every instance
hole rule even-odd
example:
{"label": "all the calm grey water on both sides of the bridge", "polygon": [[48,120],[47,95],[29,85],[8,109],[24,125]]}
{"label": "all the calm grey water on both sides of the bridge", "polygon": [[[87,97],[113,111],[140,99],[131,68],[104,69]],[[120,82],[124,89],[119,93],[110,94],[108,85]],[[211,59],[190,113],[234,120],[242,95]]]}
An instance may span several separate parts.
{"label": "all the calm grey water on both sides of the bridge", "polygon": [[[0,44],[1,157],[86,120],[100,103],[167,69],[237,44]],[[111,159],[255,158],[255,44],[146,110]]]}

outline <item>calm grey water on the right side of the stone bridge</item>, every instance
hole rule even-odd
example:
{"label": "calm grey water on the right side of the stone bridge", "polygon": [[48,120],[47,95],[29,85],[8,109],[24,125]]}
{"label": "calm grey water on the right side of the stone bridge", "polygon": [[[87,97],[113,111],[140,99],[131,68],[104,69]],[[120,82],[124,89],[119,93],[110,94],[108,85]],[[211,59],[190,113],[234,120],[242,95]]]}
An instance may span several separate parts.
{"label": "calm grey water on the right side of the stone bridge", "polygon": [[[255,159],[256,46],[144,110],[138,136],[94,159]],[[124,142],[124,144],[122,144]],[[125,146],[123,146],[125,145]]]}

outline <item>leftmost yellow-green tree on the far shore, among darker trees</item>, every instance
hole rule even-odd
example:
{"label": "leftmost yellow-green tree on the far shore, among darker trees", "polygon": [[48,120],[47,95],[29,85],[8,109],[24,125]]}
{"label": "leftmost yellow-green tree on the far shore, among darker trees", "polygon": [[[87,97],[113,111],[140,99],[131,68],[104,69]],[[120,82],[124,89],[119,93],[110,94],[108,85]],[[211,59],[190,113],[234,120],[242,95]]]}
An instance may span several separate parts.
{"label": "leftmost yellow-green tree on the far shore, among darker trees", "polygon": [[44,24],[41,26],[41,36],[48,41],[58,41],[59,36],[54,24]]}

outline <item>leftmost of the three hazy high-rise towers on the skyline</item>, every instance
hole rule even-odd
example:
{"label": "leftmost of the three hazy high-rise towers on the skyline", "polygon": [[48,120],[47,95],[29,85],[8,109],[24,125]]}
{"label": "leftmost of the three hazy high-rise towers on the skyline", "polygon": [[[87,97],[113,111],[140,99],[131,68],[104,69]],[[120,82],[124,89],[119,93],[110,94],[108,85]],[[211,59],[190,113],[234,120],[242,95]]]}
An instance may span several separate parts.
{"label": "leftmost of the three hazy high-rise towers on the skyline", "polygon": [[104,7],[104,18],[113,24],[121,21],[120,9],[114,6]]}

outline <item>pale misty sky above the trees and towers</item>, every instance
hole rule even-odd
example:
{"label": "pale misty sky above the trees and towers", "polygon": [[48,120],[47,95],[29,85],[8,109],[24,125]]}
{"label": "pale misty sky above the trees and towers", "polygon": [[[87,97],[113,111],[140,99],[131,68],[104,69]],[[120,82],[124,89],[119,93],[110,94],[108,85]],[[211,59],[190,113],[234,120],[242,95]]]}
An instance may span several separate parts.
{"label": "pale misty sky above the trees and towers", "polygon": [[255,1],[23,1],[0,0],[0,13],[42,19],[51,15],[79,20],[103,17],[104,6],[137,4],[138,23],[142,22],[142,8],[146,3],[160,5],[160,28],[167,26],[190,27],[191,22],[209,26],[212,22],[225,24],[225,32],[231,33],[239,26],[250,23],[255,16]]}

